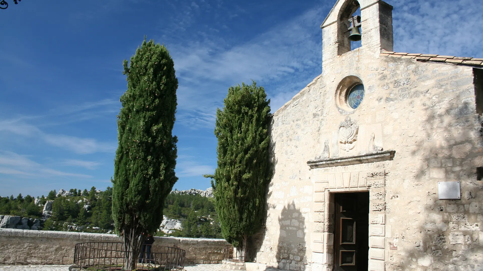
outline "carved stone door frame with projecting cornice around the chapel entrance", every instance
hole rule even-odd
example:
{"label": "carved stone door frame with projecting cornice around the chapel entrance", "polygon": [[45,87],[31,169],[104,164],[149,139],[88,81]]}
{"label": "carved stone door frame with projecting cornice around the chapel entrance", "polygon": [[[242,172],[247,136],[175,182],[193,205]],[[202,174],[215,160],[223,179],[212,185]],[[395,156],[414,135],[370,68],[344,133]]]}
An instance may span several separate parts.
{"label": "carved stone door frame with projecting cornice around the chapel entrance", "polygon": [[[334,193],[369,191],[369,270],[384,271],[386,258],[385,178],[395,151],[307,162],[313,182],[313,271],[333,269]],[[355,158],[355,159],[354,159]]]}

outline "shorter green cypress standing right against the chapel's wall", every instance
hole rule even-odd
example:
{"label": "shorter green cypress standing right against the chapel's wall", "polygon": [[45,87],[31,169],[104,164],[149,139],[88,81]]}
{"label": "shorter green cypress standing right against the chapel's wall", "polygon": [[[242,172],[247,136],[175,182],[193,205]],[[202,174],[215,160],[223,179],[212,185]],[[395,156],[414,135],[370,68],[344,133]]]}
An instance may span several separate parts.
{"label": "shorter green cypress standing right against the chapel's wall", "polygon": [[270,181],[270,100],[263,87],[241,83],[228,89],[223,110],[216,111],[218,167],[214,199],[223,237],[235,246],[262,225],[265,189]]}

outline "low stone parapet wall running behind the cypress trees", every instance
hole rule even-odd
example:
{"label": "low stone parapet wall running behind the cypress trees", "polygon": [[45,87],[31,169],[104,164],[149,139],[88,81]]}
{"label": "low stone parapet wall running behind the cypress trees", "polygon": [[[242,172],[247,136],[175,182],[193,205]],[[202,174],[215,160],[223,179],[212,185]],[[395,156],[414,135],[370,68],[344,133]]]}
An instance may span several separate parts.
{"label": "low stone parapet wall running behind the cypress trees", "polygon": [[[156,245],[186,251],[185,264],[221,263],[225,239],[155,237]],[[71,264],[74,246],[84,242],[124,242],[115,234],[0,229],[0,265]]]}

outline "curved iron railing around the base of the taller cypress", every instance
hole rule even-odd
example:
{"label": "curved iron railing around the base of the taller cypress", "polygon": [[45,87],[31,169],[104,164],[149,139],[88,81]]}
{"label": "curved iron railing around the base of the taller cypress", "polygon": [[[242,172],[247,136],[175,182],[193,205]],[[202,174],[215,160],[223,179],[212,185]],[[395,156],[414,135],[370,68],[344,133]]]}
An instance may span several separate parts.
{"label": "curved iron railing around the base of the taller cypress", "polygon": [[[151,247],[150,255],[147,248],[141,255],[136,255],[139,263],[136,270],[175,271],[185,267],[185,250],[177,247],[146,245]],[[101,271],[123,270],[125,266],[124,243],[87,242],[75,244],[73,269]]]}

